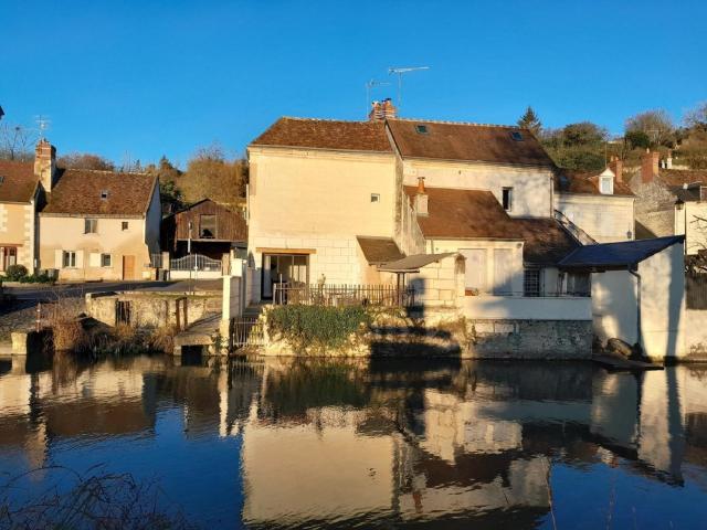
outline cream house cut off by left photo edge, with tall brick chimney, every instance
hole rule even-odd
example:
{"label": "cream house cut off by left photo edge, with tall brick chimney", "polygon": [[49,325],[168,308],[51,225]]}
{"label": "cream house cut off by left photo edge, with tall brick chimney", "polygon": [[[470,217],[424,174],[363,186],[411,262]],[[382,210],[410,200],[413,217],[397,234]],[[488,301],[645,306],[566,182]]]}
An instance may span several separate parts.
{"label": "cream house cut off by left photo edge, with tall brick chimney", "polygon": [[56,177],[55,149],[42,139],[32,162],[0,160],[0,273],[36,268],[36,211]]}

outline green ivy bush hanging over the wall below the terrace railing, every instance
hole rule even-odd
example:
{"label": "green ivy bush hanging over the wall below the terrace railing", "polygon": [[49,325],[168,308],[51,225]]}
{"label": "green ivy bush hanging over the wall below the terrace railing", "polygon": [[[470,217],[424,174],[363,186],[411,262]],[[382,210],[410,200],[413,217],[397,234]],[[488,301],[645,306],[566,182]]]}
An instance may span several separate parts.
{"label": "green ivy bush hanging over the wall below the terrace railing", "polygon": [[277,306],[267,314],[268,331],[279,333],[293,344],[338,348],[351,333],[366,328],[371,316],[361,306]]}

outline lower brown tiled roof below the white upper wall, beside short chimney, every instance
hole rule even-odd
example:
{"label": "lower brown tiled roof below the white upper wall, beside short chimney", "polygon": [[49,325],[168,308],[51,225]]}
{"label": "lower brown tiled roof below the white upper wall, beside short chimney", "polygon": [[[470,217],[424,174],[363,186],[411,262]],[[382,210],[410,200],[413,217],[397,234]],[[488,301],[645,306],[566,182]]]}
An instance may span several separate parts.
{"label": "lower brown tiled roof below the white upper wall, beside short chimney", "polygon": [[[415,187],[405,187],[412,201]],[[550,218],[510,218],[490,191],[428,188],[428,216],[418,216],[426,239],[525,241],[524,259],[557,264],[578,243]]]}

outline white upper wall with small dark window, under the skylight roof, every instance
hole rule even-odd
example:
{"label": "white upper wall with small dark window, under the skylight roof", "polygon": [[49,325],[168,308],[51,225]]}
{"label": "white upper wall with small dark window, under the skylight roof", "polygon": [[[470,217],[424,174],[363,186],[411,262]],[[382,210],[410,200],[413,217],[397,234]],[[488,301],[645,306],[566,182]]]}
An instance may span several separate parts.
{"label": "white upper wall with small dark window, under the skylight roof", "polygon": [[416,186],[424,177],[431,188],[488,190],[498,202],[503,188],[513,188],[511,216],[550,218],[552,212],[552,171],[547,168],[519,168],[498,163],[453,162],[444,160],[404,160],[403,181]]}

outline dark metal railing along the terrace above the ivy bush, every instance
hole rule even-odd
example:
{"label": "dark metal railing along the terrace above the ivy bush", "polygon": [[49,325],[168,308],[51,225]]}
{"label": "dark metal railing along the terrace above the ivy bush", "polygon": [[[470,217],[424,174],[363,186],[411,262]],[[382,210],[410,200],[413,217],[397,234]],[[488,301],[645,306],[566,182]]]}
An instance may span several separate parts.
{"label": "dark metal railing along the terrace above the ivy bush", "polygon": [[414,305],[414,289],[394,285],[273,285],[273,304],[306,306],[383,306]]}

